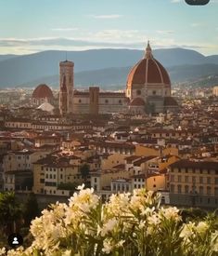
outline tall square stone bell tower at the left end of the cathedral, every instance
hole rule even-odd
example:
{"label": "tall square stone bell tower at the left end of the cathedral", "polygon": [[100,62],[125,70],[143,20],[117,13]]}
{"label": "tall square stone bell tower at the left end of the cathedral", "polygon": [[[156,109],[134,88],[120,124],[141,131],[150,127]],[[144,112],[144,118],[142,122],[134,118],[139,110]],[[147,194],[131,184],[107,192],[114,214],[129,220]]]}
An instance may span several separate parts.
{"label": "tall square stone bell tower at the left end of the cathedral", "polygon": [[61,115],[72,113],[73,67],[72,61],[59,62],[59,112]]}

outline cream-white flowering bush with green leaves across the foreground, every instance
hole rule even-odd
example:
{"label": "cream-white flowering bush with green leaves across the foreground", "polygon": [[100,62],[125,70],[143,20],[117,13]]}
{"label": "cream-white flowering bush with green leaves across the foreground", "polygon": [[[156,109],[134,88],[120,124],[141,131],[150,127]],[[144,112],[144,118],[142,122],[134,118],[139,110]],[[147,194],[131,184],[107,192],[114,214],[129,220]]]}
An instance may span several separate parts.
{"label": "cream-white flowering bush with green leaves across the foreground", "polygon": [[182,222],[176,208],[160,208],[160,195],[144,189],[111,195],[102,204],[93,189],[74,193],[32,221],[28,249],[0,249],[8,256],[215,256],[218,223],[212,215]]}

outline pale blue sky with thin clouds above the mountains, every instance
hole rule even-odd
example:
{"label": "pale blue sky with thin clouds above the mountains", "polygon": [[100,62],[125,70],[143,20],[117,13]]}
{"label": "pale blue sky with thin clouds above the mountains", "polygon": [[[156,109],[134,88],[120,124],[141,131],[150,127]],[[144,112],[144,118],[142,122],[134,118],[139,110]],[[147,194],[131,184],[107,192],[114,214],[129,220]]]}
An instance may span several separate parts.
{"label": "pale blue sky with thin clouds above the mountains", "polygon": [[0,0],[0,54],[185,47],[218,54],[218,0]]}

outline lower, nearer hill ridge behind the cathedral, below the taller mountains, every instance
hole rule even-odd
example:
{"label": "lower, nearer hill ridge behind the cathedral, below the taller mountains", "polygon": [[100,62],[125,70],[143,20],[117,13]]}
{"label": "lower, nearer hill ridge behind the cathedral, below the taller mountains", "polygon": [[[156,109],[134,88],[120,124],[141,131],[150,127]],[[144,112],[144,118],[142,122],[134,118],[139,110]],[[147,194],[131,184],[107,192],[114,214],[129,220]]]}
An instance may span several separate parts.
{"label": "lower, nearer hill ridge behind the cathedral, below the taller mountains", "polygon": [[[98,85],[100,88],[105,89],[125,88],[127,75],[130,70],[131,67],[122,67],[75,73],[75,87],[86,88]],[[173,84],[189,83],[197,86],[199,83],[199,86],[212,86],[212,82],[214,84],[217,83],[218,65],[215,64],[174,66],[168,67],[167,71]],[[35,87],[35,85],[43,82],[53,88],[58,88],[58,74],[34,80],[29,83],[29,87]],[[26,85],[19,85],[19,87],[24,86]]]}

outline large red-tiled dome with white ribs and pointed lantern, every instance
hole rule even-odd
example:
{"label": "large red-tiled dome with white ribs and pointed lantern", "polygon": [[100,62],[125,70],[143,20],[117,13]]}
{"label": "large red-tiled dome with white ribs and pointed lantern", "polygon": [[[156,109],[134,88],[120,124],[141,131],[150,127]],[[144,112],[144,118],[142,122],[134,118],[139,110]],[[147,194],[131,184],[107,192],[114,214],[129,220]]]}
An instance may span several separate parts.
{"label": "large red-tiled dome with white ribs and pointed lantern", "polygon": [[146,85],[152,87],[152,84],[163,85],[165,88],[171,88],[169,74],[159,61],[155,60],[152,50],[147,43],[146,54],[141,61],[138,61],[132,68],[127,78],[127,88],[135,88],[137,85]]}

